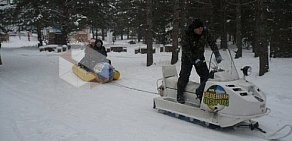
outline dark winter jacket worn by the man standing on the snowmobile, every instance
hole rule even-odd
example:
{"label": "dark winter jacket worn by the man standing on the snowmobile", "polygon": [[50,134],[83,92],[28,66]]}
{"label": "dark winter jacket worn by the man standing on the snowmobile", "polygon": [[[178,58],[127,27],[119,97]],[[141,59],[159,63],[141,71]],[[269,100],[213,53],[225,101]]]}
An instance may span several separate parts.
{"label": "dark winter jacket worn by the man standing on the snowmobile", "polygon": [[215,39],[204,28],[201,35],[194,32],[194,28],[190,25],[182,40],[182,55],[189,57],[190,60],[205,60],[205,46],[208,44],[215,55],[219,54]]}

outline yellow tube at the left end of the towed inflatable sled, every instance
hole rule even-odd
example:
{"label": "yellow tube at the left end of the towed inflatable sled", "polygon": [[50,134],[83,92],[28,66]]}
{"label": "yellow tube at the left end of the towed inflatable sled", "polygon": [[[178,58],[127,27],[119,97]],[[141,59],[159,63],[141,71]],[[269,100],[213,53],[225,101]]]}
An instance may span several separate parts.
{"label": "yellow tube at the left end of the towed inflatable sled", "polygon": [[87,72],[86,70],[80,68],[77,65],[72,66],[73,73],[77,75],[80,79],[86,82],[95,81],[97,75],[93,72]]}

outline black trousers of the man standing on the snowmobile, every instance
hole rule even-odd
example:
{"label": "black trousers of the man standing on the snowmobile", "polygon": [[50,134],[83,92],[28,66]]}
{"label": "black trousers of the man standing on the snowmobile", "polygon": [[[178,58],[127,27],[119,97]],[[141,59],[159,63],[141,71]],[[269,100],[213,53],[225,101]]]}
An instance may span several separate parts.
{"label": "black trousers of the man standing on the snowmobile", "polygon": [[[196,62],[196,63],[195,63]],[[201,100],[206,82],[209,78],[209,69],[207,67],[205,58],[190,60],[188,56],[182,56],[181,70],[179,73],[179,78],[177,82],[177,99],[183,98],[183,93],[185,91],[186,85],[189,82],[189,77],[193,68],[195,66],[197,74],[200,76],[200,86],[196,89],[197,98]]]}

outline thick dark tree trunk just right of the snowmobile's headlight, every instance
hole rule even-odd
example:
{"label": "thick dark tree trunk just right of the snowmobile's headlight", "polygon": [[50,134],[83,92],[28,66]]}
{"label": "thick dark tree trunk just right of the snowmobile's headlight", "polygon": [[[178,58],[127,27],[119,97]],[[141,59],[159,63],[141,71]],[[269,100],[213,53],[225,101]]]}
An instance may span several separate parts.
{"label": "thick dark tree trunk just right of the snowmobile's headlight", "polygon": [[265,31],[267,27],[267,23],[265,22],[265,10],[266,6],[264,4],[264,0],[259,0],[258,2],[259,7],[259,59],[260,59],[260,70],[259,76],[264,75],[266,72],[269,71],[269,57],[268,57],[268,42],[267,42],[267,33]]}

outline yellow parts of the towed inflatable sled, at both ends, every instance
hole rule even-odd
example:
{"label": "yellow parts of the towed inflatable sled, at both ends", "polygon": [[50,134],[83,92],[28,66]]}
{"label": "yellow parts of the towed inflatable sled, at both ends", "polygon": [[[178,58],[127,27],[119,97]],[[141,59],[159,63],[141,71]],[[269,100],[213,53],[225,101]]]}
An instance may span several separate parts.
{"label": "yellow parts of the towed inflatable sled, at both ends", "polygon": [[[72,70],[73,70],[73,73],[75,75],[77,75],[80,79],[82,79],[83,81],[86,81],[86,82],[97,81],[97,82],[101,82],[101,83],[106,83],[106,82],[112,81],[109,79],[102,80],[99,78],[99,76],[96,73],[87,72],[86,70],[80,68],[77,65],[73,65]],[[120,72],[115,70],[113,80],[118,80],[119,78],[120,78]]]}

